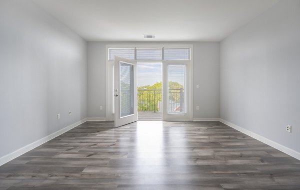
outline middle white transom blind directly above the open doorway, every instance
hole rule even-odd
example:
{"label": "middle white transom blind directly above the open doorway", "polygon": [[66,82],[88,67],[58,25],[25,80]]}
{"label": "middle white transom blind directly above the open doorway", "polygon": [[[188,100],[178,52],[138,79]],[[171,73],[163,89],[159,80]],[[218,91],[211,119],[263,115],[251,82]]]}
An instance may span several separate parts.
{"label": "middle white transom blind directly above the open doorway", "polygon": [[136,60],[161,60],[162,49],[136,49]]}

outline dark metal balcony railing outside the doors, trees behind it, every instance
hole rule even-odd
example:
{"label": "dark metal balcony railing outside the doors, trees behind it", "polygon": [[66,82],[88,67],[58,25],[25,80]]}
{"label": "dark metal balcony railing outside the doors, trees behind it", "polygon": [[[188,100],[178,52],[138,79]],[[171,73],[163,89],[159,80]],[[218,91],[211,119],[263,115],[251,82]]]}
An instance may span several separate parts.
{"label": "dark metal balcony railing outside the doors, trees behind it", "polygon": [[[168,112],[184,112],[184,89],[169,89],[168,97]],[[161,112],[161,89],[137,90],[137,111]]]}

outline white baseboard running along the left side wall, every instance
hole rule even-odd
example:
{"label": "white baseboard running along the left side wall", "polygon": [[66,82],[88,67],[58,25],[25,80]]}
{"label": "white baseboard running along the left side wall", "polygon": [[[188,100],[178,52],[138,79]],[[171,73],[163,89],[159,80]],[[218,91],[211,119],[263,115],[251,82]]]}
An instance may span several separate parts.
{"label": "white baseboard running along the left side wall", "polygon": [[63,134],[63,133],[65,133],[66,131],[68,131],[68,130],[70,130],[70,129],[72,129],[72,128],[74,128],[74,127],[76,127],[76,126],[78,126],[78,125],[80,125],[82,123],[84,123],[85,121],[86,121],[86,118],[82,119],[80,121],[77,121],[76,123],[73,123],[73,124],[71,124],[71,125],[69,125],[67,127],[64,127],[63,129],[60,129],[60,130],[58,130],[58,131],[56,131],[56,132],[54,132],[54,133],[52,133],[52,134],[50,134],[48,136],[45,136],[45,137],[43,137],[43,138],[41,138],[39,140],[36,140],[35,142],[27,144],[26,146],[23,146],[23,147],[15,150],[15,151],[7,154],[7,155],[4,155],[4,156],[0,157],[0,166],[3,165],[4,163],[7,163],[8,161],[10,161],[10,160],[12,160],[12,159],[14,159],[14,158],[16,158],[16,157],[18,157],[18,156],[26,153],[26,152],[32,150],[33,148],[36,148],[37,146],[40,146],[43,143],[45,143],[45,142],[47,142],[47,141],[49,141],[49,140],[51,140],[51,139],[53,139],[53,138],[55,138],[55,137]]}

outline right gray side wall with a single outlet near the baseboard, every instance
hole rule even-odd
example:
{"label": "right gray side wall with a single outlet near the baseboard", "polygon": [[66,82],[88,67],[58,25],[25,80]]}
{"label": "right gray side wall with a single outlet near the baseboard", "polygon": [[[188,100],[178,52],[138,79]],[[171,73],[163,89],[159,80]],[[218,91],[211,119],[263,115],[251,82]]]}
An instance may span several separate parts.
{"label": "right gray side wall with a single outlet near the baseboard", "polygon": [[299,71],[300,1],[280,1],[221,42],[220,117],[300,152]]}

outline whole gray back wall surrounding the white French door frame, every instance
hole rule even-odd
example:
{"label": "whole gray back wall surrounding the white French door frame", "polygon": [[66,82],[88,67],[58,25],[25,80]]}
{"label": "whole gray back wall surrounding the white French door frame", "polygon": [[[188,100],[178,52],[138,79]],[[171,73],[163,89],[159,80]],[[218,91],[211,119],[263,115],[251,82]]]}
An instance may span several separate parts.
{"label": "whole gray back wall surrounding the white French door frame", "polygon": [[[87,116],[105,117],[105,45],[155,44],[122,42],[87,43]],[[156,44],[193,44],[193,117],[219,118],[219,43],[184,42]],[[199,84],[199,89],[196,89]],[[100,105],[103,110],[100,110]],[[196,106],[200,110],[196,110]]]}

